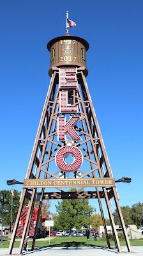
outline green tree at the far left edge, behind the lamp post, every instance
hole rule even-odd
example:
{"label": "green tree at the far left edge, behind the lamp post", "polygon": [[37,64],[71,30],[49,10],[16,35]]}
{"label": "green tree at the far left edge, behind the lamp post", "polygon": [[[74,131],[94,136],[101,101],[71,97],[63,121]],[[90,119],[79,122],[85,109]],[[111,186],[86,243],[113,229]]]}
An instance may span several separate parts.
{"label": "green tree at the far left edge, behind the lamp post", "polygon": [[[1,190],[0,197],[6,195],[4,202],[4,225],[11,225],[11,191],[10,190]],[[19,210],[19,199],[20,192],[17,190],[13,190],[13,222],[15,222],[17,217],[17,212]],[[0,219],[2,219],[2,202],[0,201]]]}

